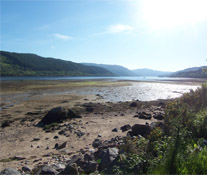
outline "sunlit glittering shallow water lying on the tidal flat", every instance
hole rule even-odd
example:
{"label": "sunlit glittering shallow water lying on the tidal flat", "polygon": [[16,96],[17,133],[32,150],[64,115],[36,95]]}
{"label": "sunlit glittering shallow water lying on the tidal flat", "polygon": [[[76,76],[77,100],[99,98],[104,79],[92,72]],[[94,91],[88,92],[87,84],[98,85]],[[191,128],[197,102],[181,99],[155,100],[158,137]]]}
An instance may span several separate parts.
{"label": "sunlit glittering shallow water lying on the tidal flat", "polygon": [[[129,86],[120,87],[84,87],[72,89],[58,94],[96,95],[99,94],[106,101],[151,101],[158,99],[172,99],[180,97],[191,89],[196,90],[198,85],[183,85],[158,82],[133,82]],[[44,93],[49,95],[50,93]],[[57,94],[57,92],[56,92]]]}

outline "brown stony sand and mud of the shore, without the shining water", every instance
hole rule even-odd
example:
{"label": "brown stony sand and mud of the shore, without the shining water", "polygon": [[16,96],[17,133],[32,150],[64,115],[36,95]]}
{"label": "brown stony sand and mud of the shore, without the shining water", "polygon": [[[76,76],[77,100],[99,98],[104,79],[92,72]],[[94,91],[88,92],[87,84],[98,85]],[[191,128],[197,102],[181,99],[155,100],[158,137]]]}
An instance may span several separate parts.
{"label": "brown stony sand and mud of the shore, without the shining water", "polygon": [[[58,82],[58,84],[57,84]],[[62,83],[62,84],[61,84]],[[53,164],[56,159],[69,160],[74,154],[80,153],[80,150],[92,150],[91,143],[94,139],[108,140],[116,136],[125,136],[120,128],[124,125],[145,124],[159,121],[155,118],[139,119],[134,117],[140,110],[161,110],[162,105],[167,104],[171,99],[155,101],[120,101],[110,102],[100,94],[81,95],[81,94],[50,94],[54,91],[64,91],[68,88],[77,89],[95,86],[98,89],[103,87],[120,88],[129,86],[132,81],[39,81],[28,82],[19,81],[3,83],[1,94],[7,93],[1,100],[8,100],[10,95],[14,98],[16,93],[29,93],[28,99],[20,100],[17,98],[13,106],[0,111],[0,123],[5,120],[10,121],[9,126],[0,128],[1,135],[1,156],[0,170],[6,167],[21,168],[28,166],[31,169],[43,165],[46,162]],[[68,83],[68,84],[67,84]],[[71,84],[72,83],[72,84]],[[74,83],[74,84],[73,84]],[[142,83],[142,82],[135,82]],[[146,82],[144,82],[146,83]],[[152,83],[152,82],[148,82]],[[160,82],[161,83],[161,82]],[[3,89],[2,89],[3,88]],[[49,88],[49,89],[48,89]],[[51,88],[51,89],[50,89]],[[52,91],[50,91],[52,90]],[[48,95],[44,93],[48,92]],[[22,97],[20,97],[21,99]],[[23,97],[26,98],[26,97]],[[1,101],[2,102],[2,101]],[[132,102],[136,107],[132,107]],[[2,105],[1,105],[2,106]],[[42,128],[36,127],[36,124],[47,114],[49,110],[55,107],[65,107],[82,116],[81,119],[72,119],[60,124],[59,130],[54,132],[45,132]],[[87,111],[87,106],[93,108],[91,112]],[[159,111],[158,110],[158,111]],[[73,125],[74,130],[62,135],[59,132],[66,126]],[[118,132],[112,132],[114,128]],[[78,136],[77,133],[84,133]],[[54,139],[58,136],[58,139]],[[38,138],[37,141],[35,138]],[[54,149],[56,143],[67,141],[66,148],[58,151]],[[24,148],[24,149],[22,149]],[[46,156],[47,155],[47,156]],[[14,157],[17,159],[12,159]],[[21,159],[22,158],[22,159]]]}

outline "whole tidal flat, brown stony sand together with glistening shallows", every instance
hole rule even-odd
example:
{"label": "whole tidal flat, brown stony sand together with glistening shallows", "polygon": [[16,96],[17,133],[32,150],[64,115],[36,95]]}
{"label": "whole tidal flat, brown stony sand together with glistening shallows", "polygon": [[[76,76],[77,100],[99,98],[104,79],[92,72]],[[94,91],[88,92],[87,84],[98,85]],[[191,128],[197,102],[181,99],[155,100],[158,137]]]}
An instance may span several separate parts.
{"label": "whole tidal flat, brown stony sand together with glistening shallows", "polygon": [[[93,151],[94,139],[124,136],[126,132],[120,129],[124,125],[160,120],[155,111],[163,113],[171,98],[199,86],[195,82],[2,81],[0,170],[32,169]],[[49,110],[59,106],[82,118],[66,120],[49,130],[37,127]],[[143,110],[151,117],[138,116]],[[63,149],[55,149],[64,142]]]}

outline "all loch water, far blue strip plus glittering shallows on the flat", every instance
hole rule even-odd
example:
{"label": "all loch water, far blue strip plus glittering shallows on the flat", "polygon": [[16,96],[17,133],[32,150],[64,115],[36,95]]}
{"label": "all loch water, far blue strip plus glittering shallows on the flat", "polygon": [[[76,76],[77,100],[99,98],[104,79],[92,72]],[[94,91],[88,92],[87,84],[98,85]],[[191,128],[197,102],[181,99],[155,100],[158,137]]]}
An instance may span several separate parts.
{"label": "all loch water, far blue strip plus glittering shallows on the flat", "polygon": [[[119,102],[119,101],[151,101],[157,99],[172,99],[180,97],[182,94],[189,92],[191,89],[196,90],[199,85],[186,85],[175,83],[173,80],[187,81],[188,79],[180,78],[161,78],[161,77],[3,77],[1,81],[9,80],[89,80],[89,79],[107,79],[116,80],[138,80],[140,82],[130,82],[127,86],[112,86],[112,87],[80,87],[74,89],[66,89],[60,91],[41,90],[29,91],[22,94],[2,94],[1,101],[6,103],[0,107],[0,110],[12,107],[15,104],[27,101],[39,96],[58,95],[58,94],[75,94],[75,95],[97,95],[99,94],[104,101]],[[146,81],[146,82],[145,82]],[[172,81],[172,82],[171,82]],[[97,98],[99,98],[97,96]]]}

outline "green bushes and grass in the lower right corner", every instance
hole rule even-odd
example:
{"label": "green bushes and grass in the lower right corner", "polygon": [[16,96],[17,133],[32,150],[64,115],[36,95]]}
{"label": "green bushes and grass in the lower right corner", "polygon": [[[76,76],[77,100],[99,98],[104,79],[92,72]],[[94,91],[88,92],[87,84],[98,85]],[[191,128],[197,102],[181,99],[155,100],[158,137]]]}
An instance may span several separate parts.
{"label": "green bushes and grass in the lower right corner", "polygon": [[114,174],[207,174],[207,83],[167,105],[164,127],[125,137]]}

